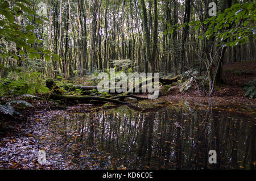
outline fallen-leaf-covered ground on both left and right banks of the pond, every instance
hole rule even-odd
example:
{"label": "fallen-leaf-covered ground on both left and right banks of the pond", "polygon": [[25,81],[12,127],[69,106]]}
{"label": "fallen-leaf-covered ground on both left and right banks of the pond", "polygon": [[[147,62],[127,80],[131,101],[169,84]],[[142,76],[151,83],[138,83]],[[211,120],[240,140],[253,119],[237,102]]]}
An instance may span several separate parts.
{"label": "fallen-leaf-covered ground on both left and right banks of the pond", "polygon": [[[256,79],[256,61],[243,61],[224,66],[225,84],[218,85],[212,97],[201,96],[193,86],[188,92],[173,92],[172,95],[159,96],[153,102],[179,102],[187,100],[190,103],[214,106],[222,111],[244,114],[250,113],[256,119],[255,98],[245,97],[242,85]],[[146,95],[141,95],[146,96]],[[51,131],[42,130],[50,121],[58,116],[71,112],[95,112],[98,106],[80,104],[67,110],[51,110],[44,100],[32,100],[34,108],[19,109],[22,116],[0,115],[0,169],[72,169],[57,156],[58,149],[53,149],[55,157],[51,163],[41,166],[37,161],[37,151],[42,149],[42,143],[51,135]],[[167,104],[167,106],[168,106]],[[54,143],[53,143],[54,144]],[[89,168],[88,168],[89,169]]]}

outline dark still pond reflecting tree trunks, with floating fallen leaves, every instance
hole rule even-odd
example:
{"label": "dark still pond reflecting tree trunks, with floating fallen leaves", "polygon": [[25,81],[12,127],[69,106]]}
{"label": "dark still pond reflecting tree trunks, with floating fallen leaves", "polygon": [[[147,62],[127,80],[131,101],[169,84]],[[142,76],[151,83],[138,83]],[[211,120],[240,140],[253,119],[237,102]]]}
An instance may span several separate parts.
{"label": "dark still pond reflecting tree trunks, with floating fallen leaves", "polygon": [[42,145],[70,169],[253,169],[253,116],[188,102],[76,112],[45,125]]}

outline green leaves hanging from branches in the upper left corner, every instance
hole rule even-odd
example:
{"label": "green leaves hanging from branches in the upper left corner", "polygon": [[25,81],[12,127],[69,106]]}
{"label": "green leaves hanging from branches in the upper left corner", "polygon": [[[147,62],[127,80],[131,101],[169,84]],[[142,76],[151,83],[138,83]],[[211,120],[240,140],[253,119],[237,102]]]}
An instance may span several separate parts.
{"label": "green leaves hanging from branches in the upper left corner", "polygon": [[[1,57],[32,60],[40,59],[44,55],[46,60],[49,60],[50,56],[53,60],[59,60],[56,54],[52,54],[51,51],[39,45],[42,40],[39,40],[34,33],[35,25],[42,25],[42,19],[47,19],[39,17],[34,10],[30,9],[32,3],[30,0],[10,1],[10,3],[0,0]],[[20,23],[21,20],[22,23]],[[35,44],[36,49],[32,46]],[[3,68],[3,64],[0,66]]]}

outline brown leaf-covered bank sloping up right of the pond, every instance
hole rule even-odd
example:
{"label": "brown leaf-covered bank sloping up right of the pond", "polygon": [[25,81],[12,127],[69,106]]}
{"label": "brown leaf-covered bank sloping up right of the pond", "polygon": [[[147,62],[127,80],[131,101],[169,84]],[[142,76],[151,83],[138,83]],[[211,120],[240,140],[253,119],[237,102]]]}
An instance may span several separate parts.
{"label": "brown leaf-covered bank sloping up right of the pond", "polygon": [[[205,73],[202,73],[205,74]],[[224,83],[217,85],[213,96],[199,95],[196,85],[187,92],[174,92],[172,95],[162,96],[160,99],[179,100],[185,99],[189,102],[212,103],[222,106],[256,106],[255,98],[245,96],[243,84],[256,79],[256,60],[242,61],[234,64],[224,65]]]}

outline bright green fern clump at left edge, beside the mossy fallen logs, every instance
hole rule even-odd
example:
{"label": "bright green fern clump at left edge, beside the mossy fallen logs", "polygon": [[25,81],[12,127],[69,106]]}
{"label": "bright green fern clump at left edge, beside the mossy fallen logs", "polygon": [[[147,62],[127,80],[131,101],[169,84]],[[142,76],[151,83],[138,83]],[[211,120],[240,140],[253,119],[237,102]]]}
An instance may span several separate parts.
{"label": "bright green fern clump at left edge, beside the mossy fallen logs", "polygon": [[2,94],[22,95],[48,92],[44,85],[43,75],[38,72],[11,73],[9,77],[0,81]]}

